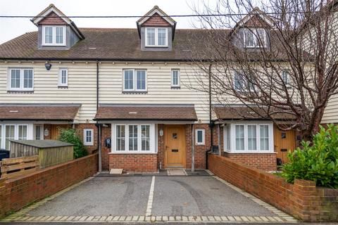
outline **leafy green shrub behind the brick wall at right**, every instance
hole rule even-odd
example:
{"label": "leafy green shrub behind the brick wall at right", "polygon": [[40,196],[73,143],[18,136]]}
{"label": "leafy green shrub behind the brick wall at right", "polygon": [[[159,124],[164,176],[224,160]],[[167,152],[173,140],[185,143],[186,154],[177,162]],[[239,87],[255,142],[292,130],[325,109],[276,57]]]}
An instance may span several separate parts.
{"label": "leafy green shrub behind the brick wall at right", "polygon": [[317,186],[338,188],[338,127],[320,126],[312,144],[302,141],[301,146],[287,155],[290,162],[284,165],[282,176],[289,183],[305,179],[315,181]]}

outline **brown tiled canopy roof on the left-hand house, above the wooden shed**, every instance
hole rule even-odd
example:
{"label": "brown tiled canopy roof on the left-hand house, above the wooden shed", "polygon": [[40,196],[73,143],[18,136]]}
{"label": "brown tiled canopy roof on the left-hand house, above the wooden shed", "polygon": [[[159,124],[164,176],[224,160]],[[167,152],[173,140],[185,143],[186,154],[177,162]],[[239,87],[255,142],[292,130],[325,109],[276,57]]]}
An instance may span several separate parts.
{"label": "brown tiled canopy roof on the left-hand house, above the wooden shed", "polygon": [[0,121],[73,121],[80,106],[80,104],[0,104]]}

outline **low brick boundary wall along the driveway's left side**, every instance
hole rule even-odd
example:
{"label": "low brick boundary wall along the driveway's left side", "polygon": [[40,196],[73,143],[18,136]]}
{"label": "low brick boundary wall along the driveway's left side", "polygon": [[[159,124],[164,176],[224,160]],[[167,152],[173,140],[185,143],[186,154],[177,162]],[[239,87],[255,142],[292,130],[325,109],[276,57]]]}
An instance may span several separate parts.
{"label": "low brick boundary wall along the driveway's left side", "polygon": [[0,218],[92,176],[97,163],[98,155],[94,154],[15,179],[0,179]]}

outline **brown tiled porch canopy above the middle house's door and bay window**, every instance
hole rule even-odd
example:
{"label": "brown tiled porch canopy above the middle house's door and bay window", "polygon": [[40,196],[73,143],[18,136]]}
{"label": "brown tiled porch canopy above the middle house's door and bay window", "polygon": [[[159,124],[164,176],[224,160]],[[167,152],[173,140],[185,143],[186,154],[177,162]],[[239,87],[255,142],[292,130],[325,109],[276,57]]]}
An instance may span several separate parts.
{"label": "brown tiled porch canopy above the middle house's door and bay window", "polygon": [[94,120],[197,121],[193,104],[101,104]]}

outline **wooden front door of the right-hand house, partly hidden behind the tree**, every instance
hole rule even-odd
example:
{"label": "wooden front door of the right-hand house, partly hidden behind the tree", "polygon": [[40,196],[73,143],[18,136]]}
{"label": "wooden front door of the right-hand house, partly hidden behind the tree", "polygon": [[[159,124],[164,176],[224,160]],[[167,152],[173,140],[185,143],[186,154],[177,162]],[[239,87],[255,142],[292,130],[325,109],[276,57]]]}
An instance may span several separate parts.
{"label": "wooden front door of the right-hand house, partly hidden behind the tree", "polygon": [[277,158],[280,158],[283,163],[289,162],[287,158],[287,153],[290,150],[294,151],[295,132],[281,131],[275,126],[273,133],[275,139],[275,152],[277,153]]}

